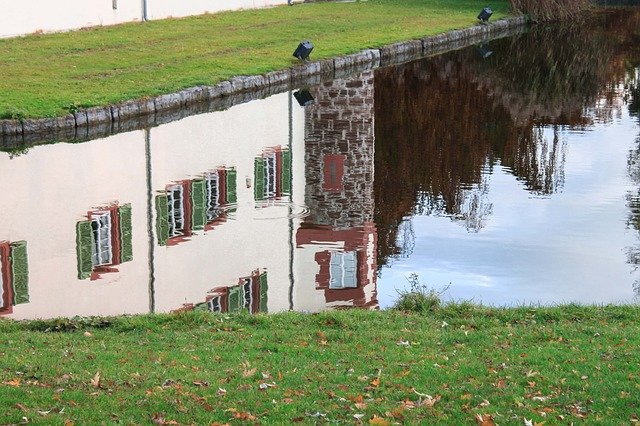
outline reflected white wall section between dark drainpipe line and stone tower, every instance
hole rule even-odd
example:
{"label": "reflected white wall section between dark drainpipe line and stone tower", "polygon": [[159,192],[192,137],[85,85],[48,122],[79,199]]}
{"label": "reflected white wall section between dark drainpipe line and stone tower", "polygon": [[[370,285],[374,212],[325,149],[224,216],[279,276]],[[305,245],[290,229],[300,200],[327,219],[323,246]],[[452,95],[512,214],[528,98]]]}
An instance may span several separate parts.
{"label": "reflected white wall section between dark drainpipe line and stone tower", "polygon": [[[288,309],[289,206],[257,209],[253,196],[255,157],[264,148],[289,144],[288,97],[283,93],[152,129],[152,187],[156,193],[174,181],[193,179],[220,166],[235,167],[238,183],[237,212],[226,223],[206,233],[199,231],[176,246],[156,246],[158,310],[202,302],[207,291],[237,284],[238,278],[258,268],[268,271],[269,311]],[[297,113],[296,120],[303,119]],[[302,147],[294,150],[294,168],[304,160],[301,139],[294,141]],[[302,185],[294,182],[296,186]]]}

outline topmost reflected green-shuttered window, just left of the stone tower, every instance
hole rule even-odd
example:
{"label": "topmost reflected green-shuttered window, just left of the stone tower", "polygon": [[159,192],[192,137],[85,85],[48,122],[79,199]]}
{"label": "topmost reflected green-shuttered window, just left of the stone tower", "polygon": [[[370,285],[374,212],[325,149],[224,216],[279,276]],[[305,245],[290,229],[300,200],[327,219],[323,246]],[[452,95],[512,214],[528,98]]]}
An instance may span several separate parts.
{"label": "topmost reflected green-shuttered window, just left of the stone tower", "polygon": [[254,162],[254,199],[269,200],[291,192],[291,152],[267,150]]}

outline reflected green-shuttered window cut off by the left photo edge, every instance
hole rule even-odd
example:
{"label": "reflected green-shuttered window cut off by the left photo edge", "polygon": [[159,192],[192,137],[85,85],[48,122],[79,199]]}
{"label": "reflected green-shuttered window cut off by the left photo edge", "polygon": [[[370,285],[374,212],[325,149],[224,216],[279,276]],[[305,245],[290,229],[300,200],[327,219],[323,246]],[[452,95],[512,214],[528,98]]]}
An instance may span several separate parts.
{"label": "reflected green-shuttered window cut off by the left photo edge", "polygon": [[0,242],[0,315],[29,302],[27,242]]}

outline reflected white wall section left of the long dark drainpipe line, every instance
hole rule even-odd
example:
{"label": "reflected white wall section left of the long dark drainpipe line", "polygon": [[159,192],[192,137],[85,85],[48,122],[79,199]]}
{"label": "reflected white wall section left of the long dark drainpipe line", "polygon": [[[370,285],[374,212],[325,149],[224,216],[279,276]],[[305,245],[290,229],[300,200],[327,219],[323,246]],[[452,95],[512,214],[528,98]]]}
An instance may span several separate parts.
{"label": "reflected white wall section left of the long dark drainpipe line", "polygon": [[[144,160],[142,132],[0,156],[0,240],[26,240],[29,262],[30,302],[14,307],[15,318],[148,310]],[[115,201],[132,205],[133,261],[78,280],[75,225]]]}

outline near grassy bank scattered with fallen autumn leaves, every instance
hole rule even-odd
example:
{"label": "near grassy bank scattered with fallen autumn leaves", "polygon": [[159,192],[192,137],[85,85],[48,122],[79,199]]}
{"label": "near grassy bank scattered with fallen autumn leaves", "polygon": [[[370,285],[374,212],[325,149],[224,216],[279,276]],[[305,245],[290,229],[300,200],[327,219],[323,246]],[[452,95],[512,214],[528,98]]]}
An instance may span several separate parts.
{"label": "near grassy bank scattered with fallen autumn leaves", "polygon": [[0,423],[629,424],[640,309],[0,321]]}

